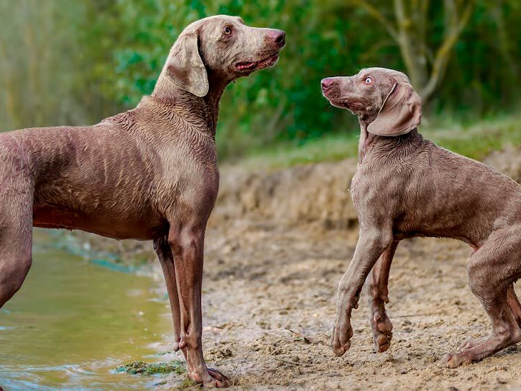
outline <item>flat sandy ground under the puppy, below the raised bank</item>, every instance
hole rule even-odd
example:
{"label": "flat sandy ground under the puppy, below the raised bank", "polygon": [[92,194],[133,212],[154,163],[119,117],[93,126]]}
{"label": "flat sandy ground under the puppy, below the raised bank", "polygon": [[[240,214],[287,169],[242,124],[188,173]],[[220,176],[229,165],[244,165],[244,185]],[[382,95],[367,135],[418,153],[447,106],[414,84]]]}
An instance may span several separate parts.
{"label": "flat sandy ground under the puppy, below the raised bank", "polygon": [[470,248],[453,240],[403,240],[389,284],[391,348],[373,351],[364,292],[351,350],[334,357],[328,343],[336,285],[356,238],[355,230],[311,225],[239,221],[226,232],[210,229],[203,290],[209,365],[248,389],[521,389],[520,346],[455,370],[439,365],[467,337],[489,331],[467,284]]}

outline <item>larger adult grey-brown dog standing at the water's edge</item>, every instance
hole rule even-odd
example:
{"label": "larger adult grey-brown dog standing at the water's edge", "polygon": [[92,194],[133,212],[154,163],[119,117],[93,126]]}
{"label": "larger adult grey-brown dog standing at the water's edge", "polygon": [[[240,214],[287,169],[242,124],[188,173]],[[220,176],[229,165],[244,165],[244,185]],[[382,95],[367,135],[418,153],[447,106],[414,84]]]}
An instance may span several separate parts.
{"label": "larger adult grey-brown dog standing at the water's edge", "polygon": [[202,355],[205,227],[217,196],[215,127],[231,81],[273,66],[284,31],[212,16],[182,31],[133,110],[94,126],[0,136],[0,307],[31,266],[31,228],[153,240],[188,376],[226,386]]}

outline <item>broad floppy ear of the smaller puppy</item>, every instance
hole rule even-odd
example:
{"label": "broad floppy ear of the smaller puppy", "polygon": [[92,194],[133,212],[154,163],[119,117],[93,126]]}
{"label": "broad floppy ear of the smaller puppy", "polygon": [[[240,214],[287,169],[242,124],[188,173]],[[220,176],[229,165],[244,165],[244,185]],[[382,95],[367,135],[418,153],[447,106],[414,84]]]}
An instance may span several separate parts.
{"label": "broad floppy ear of the smaller puppy", "polygon": [[367,131],[377,136],[401,136],[420,125],[421,98],[409,83],[395,83]]}

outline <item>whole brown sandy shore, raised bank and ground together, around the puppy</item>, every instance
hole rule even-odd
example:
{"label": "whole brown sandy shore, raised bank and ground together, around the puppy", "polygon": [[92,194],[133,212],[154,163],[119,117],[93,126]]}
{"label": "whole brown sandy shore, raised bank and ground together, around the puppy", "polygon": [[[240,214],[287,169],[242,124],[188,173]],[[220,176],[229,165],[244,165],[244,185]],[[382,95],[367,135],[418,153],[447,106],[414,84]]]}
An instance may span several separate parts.
{"label": "whole brown sandy shore, raised bank and ground together, around the puppy", "polygon": [[[487,162],[521,179],[520,151],[493,153]],[[450,240],[404,240],[398,247],[388,305],[391,349],[373,352],[364,297],[354,311],[351,350],[333,357],[327,343],[336,285],[358,236],[347,191],[355,166],[223,170],[206,240],[203,340],[210,365],[237,387],[259,389],[521,387],[521,347],[457,370],[438,367],[445,352],[489,327],[467,285],[470,249]],[[150,244],[113,248],[154,258]],[[160,350],[170,346],[165,341]],[[181,382],[172,377],[169,385]]]}

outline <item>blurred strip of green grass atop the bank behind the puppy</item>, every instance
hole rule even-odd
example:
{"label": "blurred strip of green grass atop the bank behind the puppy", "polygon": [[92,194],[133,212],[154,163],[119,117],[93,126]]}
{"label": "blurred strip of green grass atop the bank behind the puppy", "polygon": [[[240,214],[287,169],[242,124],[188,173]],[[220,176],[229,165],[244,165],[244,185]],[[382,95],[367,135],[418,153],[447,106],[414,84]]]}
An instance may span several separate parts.
{"label": "blurred strip of green grass atop the bank behind the puppy", "polygon": [[[509,116],[483,120],[467,125],[456,123],[425,123],[420,131],[439,146],[469,158],[482,160],[492,151],[506,145],[521,145],[521,117]],[[247,168],[284,168],[297,164],[340,161],[354,158],[358,149],[358,129],[312,139],[295,146],[278,143],[254,150],[240,161]]]}

